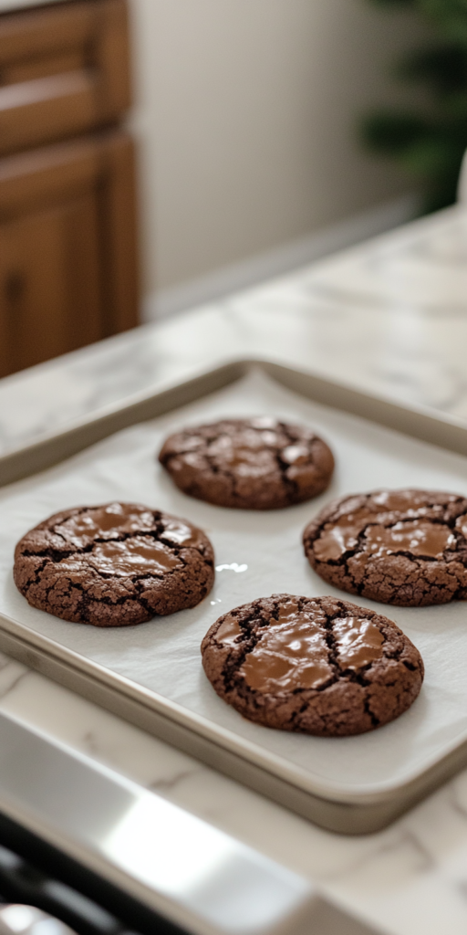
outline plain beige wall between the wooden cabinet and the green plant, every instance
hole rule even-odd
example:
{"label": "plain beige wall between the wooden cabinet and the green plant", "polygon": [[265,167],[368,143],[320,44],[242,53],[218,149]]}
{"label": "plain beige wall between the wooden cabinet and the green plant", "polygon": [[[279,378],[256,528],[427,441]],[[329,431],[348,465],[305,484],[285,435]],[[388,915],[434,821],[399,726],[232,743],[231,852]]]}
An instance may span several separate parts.
{"label": "plain beige wall between the wooden cabinet and the green plant", "polygon": [[303,237],[406,182],[358,115],[417,24],[367,0],[132,0],[145,291]]}

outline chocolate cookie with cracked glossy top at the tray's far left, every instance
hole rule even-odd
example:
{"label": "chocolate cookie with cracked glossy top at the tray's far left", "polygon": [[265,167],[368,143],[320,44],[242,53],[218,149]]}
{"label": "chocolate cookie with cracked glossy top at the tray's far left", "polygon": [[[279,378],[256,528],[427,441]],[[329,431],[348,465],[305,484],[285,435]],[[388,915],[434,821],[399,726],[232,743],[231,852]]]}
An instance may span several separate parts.
{"label": "chocolate cookie with cracked glossy top at the tray's far left", "polygon": [[76,507],[18,543],[13,575],[33,607],[94,626],[141,624],[194,607],[214,582],[201,529],[134,503]]}

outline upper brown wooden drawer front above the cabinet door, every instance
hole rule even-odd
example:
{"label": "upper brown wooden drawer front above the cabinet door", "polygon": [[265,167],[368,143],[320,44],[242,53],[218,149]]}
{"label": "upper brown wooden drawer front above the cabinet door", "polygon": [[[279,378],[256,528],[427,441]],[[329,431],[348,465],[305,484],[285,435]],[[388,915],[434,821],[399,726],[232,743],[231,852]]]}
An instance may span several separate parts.
{"label": "upper brown wooden drawer front above the cabinet door", "polygon": [[0,14],[0,152],[116,122],[129,75],[124,0]]}

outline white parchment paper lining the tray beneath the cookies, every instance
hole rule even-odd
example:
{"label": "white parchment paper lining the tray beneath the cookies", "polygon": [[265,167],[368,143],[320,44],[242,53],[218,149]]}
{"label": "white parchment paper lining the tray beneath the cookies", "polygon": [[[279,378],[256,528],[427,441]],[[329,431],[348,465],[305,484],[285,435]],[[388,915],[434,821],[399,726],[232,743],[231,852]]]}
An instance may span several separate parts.
{"label": "white parchment paper lining the tray beneath the cookies", "polygon": [[[224,510],[182,494],[155,460],[163,438],[177,427],[262,413],[304,422],[330,442],[337,468],[323,496],[285,511]],[[314,738],[250,724],[205,679],[200,642],[220,613],[255,597],[280,591],[346,597],[318,578],[301,544],[304,525],[332,496],[379,486],[466,494],[466,468],[467,459],[459,454],[319,406],[262,372],[252,372],[191,406],[134,425],[57,468],[0,491],[0,612],[281,757],[336,798],[382,793],[405,784],[467,738],[467,604],[385,609],[358,599],[402,626],[426,665],[422,692],[410,711],[361,737]],[[202,604],[148,624],[103,630],[29,607],[12,580],[16,541],[52,512],[112,499],[147,503],[205,529],[218,571]]]}

